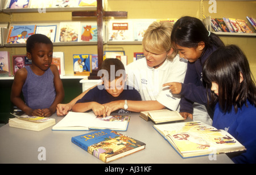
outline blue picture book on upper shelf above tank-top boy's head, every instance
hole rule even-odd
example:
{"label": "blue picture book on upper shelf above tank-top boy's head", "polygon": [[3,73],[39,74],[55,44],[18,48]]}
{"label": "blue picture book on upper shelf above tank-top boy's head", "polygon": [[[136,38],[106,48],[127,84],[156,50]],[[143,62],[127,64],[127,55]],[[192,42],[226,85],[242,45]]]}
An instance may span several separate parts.
{"label": "blue picture book on upper shelf above tank-top boy's head", "polygon": [[7,43],[26,43],[28,37],[35,34],[35,29],[36,25],[11,25]]}

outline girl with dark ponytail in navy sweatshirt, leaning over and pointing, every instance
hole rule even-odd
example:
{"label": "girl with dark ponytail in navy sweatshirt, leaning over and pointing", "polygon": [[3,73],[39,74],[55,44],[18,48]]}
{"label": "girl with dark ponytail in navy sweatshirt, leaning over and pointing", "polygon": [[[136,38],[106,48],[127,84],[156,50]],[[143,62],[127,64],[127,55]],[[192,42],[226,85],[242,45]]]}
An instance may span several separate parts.
{"label": "girl with dark ponytail in navy sweatshirt, leaning over and pointing", "polygon": [[177,20],[172,29],[171,41],[179,51],[179,56],[188,60],[188,68],[184,83],[170,82],[163,86],[170,86],[173,94],[182,96],[181,116],[211,125],[212,110],[206,108],[207,89],[202,78],[203,63],[224,43],[217,35],[209,32],[201,20],[191,16]]}

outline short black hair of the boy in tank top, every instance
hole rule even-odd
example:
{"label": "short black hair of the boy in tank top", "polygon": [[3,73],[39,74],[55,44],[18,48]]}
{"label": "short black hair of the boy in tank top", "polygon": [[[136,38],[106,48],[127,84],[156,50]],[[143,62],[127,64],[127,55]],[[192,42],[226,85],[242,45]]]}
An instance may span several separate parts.
{"label": "short black hair of the boy in tank top", "polygon": [[31,49],[34,48],[36,43],[51,44],[53,46],[52,41],[46,35],[34,34],[27,39],[26,49],[28,53],[31,53]]}

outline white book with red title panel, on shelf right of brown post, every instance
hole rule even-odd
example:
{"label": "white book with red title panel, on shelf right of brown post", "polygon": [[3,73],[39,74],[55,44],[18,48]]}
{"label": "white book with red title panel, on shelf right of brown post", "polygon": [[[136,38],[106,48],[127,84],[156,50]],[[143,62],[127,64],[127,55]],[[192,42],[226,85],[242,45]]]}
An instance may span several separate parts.
{"label": "white book with red title panel, on shelf right of brown post", "polygon": [[134,41],[131,20],[110,20],[109,41]]}

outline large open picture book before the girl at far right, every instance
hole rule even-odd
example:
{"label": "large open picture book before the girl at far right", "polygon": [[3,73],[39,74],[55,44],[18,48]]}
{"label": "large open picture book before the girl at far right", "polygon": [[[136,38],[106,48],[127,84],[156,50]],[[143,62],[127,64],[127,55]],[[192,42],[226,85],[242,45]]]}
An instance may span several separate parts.
{"label": "large open picture book before the girl at far right", "polygon": [[153,126],[183,158],[245,151],[225,130],[200,121],[168,123]]}

